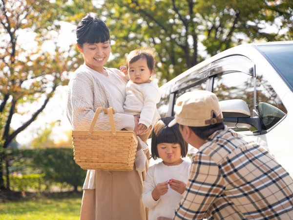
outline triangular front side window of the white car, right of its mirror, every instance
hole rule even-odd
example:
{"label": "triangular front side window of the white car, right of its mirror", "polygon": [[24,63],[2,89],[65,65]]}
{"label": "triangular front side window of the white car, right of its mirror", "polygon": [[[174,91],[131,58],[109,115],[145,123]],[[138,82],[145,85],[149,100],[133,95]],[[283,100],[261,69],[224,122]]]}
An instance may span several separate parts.
{"label": "triangular front side window of the white car, right of its mirror", "polygon": [[256,100],[262,130],[272,128],[287,114],[280,97],[266,79],[265,74],[261,72],[257,72],[256,77]]}

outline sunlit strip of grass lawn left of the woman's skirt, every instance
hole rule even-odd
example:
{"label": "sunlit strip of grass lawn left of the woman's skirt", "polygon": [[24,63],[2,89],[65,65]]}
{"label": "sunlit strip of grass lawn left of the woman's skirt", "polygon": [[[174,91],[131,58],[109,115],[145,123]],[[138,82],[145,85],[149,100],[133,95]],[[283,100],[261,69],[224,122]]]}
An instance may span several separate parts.
{"label": "sunlit strip of grass lawn left of the woman's skirt", "polygon": [[10,198],[0,202],[0,220],[79,220],[81,201],[81,193]]}

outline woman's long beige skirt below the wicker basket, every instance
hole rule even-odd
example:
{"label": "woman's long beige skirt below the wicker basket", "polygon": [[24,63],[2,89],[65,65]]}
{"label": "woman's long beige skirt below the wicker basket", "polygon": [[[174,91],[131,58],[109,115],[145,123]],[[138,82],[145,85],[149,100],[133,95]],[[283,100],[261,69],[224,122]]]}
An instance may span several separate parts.
{"label": "woman's long beige skirt below the wicker basket", "polygon": [[142,203],[145,175],[146,171],[140,173],[135,168],[96,171],[95,189],[84,189],[80,219],[147,220],[147,209]]}

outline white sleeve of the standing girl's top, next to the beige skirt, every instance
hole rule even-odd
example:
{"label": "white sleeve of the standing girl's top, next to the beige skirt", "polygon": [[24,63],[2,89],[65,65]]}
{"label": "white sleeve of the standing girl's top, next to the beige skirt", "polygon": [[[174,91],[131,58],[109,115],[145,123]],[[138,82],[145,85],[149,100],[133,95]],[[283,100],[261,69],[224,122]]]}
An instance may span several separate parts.
{"label": "white sleeve of the standing girl's top, next to the beige skirt", "polygon": [[[155,165],[154,165],[155,166]],[[155,201],[152,198],[152,191],[156,188],[155,182],[154,182],[154,166],[150,167],[146,172],[146,180],[144,181],[144,189],[143,189],[143,195],[142,200],[144,205],[147,208],[153,208],[155,207],[158,202],[160,201],[160,198]]]}

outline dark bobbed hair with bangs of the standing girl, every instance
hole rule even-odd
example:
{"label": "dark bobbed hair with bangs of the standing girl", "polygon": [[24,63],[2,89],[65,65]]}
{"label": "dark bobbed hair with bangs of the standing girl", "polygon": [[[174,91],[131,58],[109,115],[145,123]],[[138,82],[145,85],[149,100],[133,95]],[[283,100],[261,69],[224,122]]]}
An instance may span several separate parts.
{"label": "dark bobbed hair with bangs of the standing girl", "polygon": [[156,122],[151,134],[151,157],[153,159],[160,158],[157,145],[161,143],[180,144],[181,156],[186,157],[188,153],[188,143],[183,139],[179,125],[176,124],[172,127],[168,127],[170,121],[174,117],[164,117]]}

